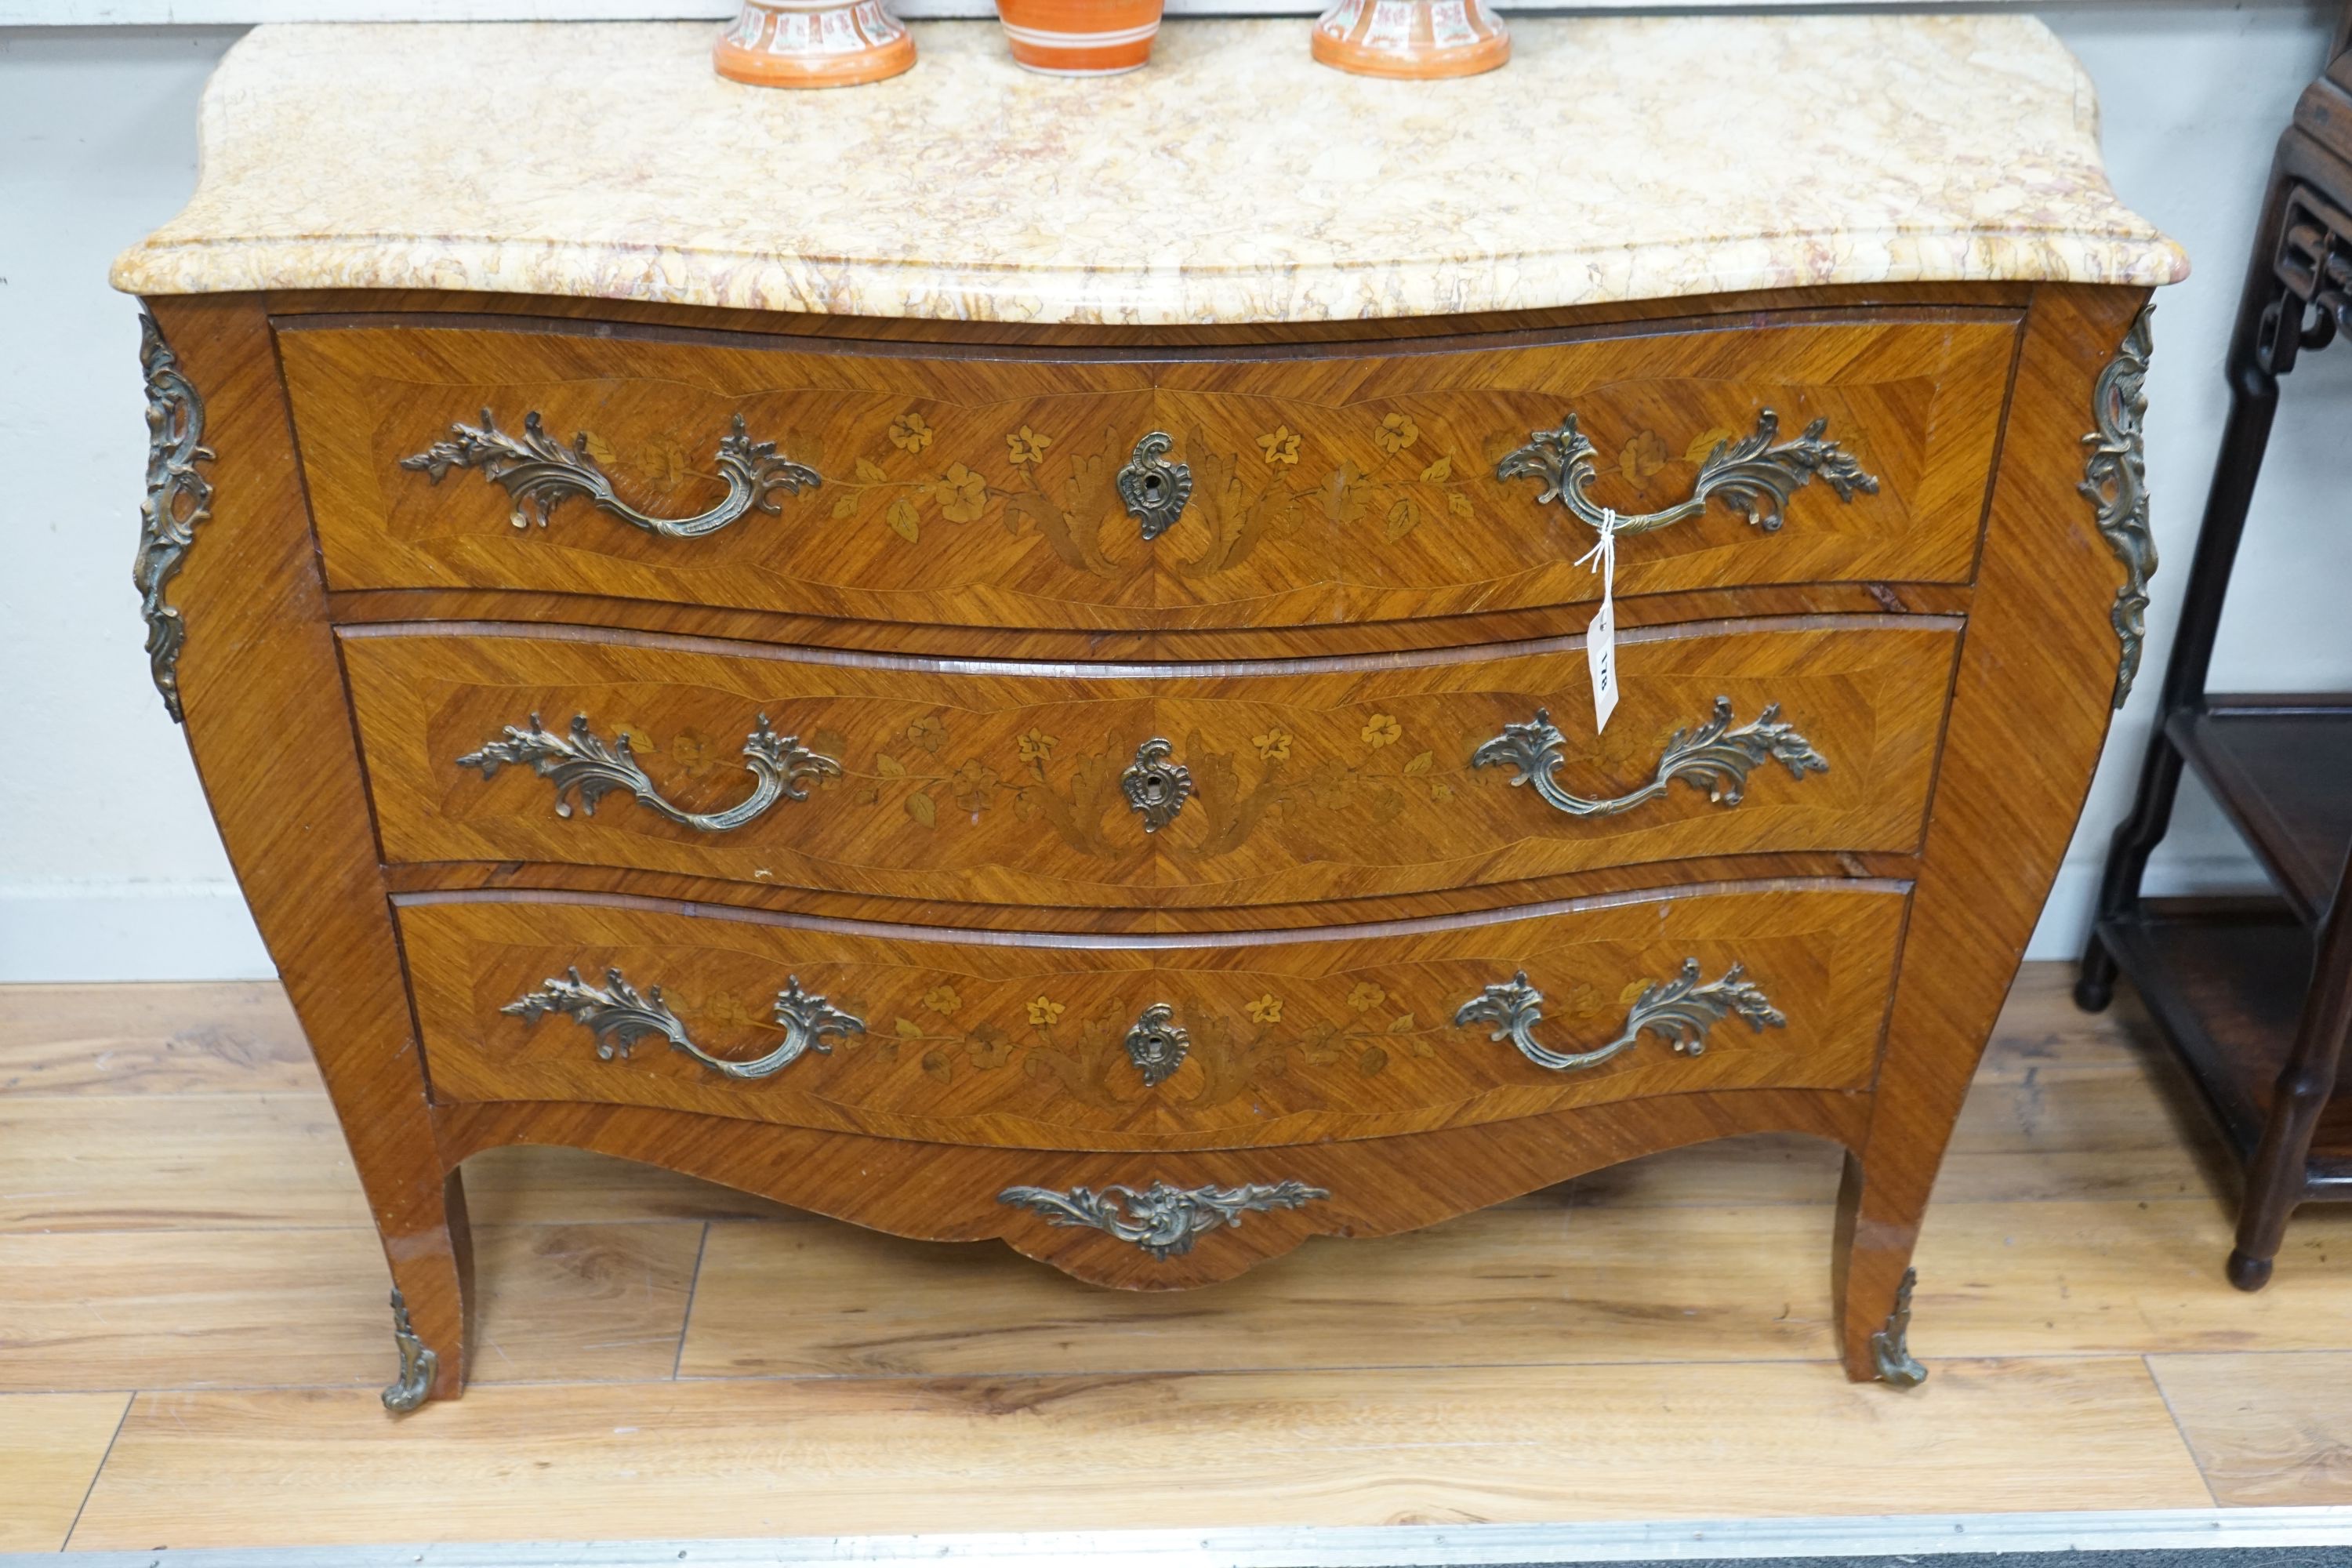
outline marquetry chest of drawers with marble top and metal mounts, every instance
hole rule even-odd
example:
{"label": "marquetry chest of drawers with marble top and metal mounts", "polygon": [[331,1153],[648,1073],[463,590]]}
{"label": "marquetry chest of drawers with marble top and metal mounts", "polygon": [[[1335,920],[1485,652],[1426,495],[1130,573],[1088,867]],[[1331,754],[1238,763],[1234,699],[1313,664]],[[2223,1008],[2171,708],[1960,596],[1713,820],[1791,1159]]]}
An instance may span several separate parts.
{"label": "marquetry chest of drawers with marble top and metal mounts", "polygon": [[510,1143],[1178,1288],[1811,1133],[1846,1371],[1924,1375],[2183,263],[2037,24],[1517,31],[1475,99],[1291,24],[1122,85],[936,26],[807,96],[701,28],[230,54],[118,268],[136,578],[383,1232],[386,1403],[463,1382]]}

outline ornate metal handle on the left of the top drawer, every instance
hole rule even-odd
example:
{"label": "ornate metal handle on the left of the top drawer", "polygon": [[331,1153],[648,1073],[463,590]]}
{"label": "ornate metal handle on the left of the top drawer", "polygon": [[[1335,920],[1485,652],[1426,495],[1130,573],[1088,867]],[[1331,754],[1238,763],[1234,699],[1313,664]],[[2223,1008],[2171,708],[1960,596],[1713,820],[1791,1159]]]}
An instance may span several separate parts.
{"label": "ornate metal handle on the left of the top drawer", "polygon": [[701,538],[717,534],[729,522],[760,508],[779,510],[769,491],[797,494],[802,487],[823,484],[818,473],[793,458],[776,456],[776,442],[755,442],[743,430],[736,414],[734,430],[720,437],[720,477],[727,480],[727,498],[708,512],[694,517],[652,517],[640,512],[612,489],[612,480],[588,456],[588,433],[581,430],[572,447],[564,447],[539,423],[539,409],[522,416],[522,435],[508,435],[482,409],[482,423],[452,423],[449,440],[433,442],[412,458],[400,458],[402,468],[433,475],[440,484],[452,468],[480,468],[482,477],[506,489],[515,503],[517,529],[548,527],[548,510],[567,496],[588,496],[595,505],[621,522],[661,534],[663,538]]}

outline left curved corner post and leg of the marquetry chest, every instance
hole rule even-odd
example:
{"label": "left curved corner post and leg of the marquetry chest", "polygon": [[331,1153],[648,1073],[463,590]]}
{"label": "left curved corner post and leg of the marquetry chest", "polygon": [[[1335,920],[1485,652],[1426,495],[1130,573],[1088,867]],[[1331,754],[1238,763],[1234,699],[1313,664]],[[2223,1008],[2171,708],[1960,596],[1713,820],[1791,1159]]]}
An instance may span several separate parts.
{"label": "left curved corner post and leg of the marquetry chest", "polygon": [[466,1201],[433,1128],[268,313],[245,294],[153,310],[139,583],[155,684],[188,726],[409,1316],[407,1382],[423,1392],[388,1403],[449,1399],[466,1375]]}

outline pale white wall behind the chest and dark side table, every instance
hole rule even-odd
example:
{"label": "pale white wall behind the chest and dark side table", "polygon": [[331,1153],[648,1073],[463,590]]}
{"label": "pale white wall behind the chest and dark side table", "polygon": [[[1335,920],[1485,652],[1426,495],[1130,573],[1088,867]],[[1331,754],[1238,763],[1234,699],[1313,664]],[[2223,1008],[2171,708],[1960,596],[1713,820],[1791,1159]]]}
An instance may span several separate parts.
{"label": "pale white wall behind the chest and dark side table", "polygon": [[[2124,200],[2197,275],[2166,289],[2147,470],[2169,569],[2037,957],[2067,957],[2131,795],[2223,411],[2220,360],[2270,146],[2321,66],[2328,9],[2044,12],[2105,106]],[[195,99],[233,28],[0,28],[0,980],[266,976],[179,731],[148,684],[129,585],[146,449],[134,306],[106,263],[195,181]],[[2352,529],[2333,501],[2352,350],[2296,369],[2216,679],[2352,686]],[[2201,797],[2166,886],[2253,879]]]}

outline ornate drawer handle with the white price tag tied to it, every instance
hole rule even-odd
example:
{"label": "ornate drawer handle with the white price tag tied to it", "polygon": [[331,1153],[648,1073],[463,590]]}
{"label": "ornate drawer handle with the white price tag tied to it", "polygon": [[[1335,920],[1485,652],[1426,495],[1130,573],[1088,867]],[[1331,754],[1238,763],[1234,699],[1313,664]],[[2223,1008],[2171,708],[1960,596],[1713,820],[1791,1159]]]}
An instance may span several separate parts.
{"label": "ornate drawer handle with the white price tag tied to it", "polygon": [[1698,465],[1698,482],[1691,498],[1663,512],[1609,512],[1592,505],[1585,487],[1592,484],[1592,442],[1576,428],[1576,416],[1559,421],[1557,430],[1534,430],[1526,447],[1519,447],[1494,468],[1496,480],[1543,480],[1545,491],[1536,503],[1557,498],[1588,529],[1611,534],[1651,534],[1656,529],[1698,517],[1708,501],[1724,501],[1748,512],[1748,522],[1771,534],[1780,527],[1788,498],[1820,475],[1839,501],[1853,501],[1853,491],[1877,494],[1877,477],[1863,473],[1837,442],[1823,440],[1828,418],[1816,418],[1797,440],[1773,447],[1780,435],[1780,416],[1771,409],[1757,414],[1757,433],[1740,442],[1717,442],[1708,461]]}

